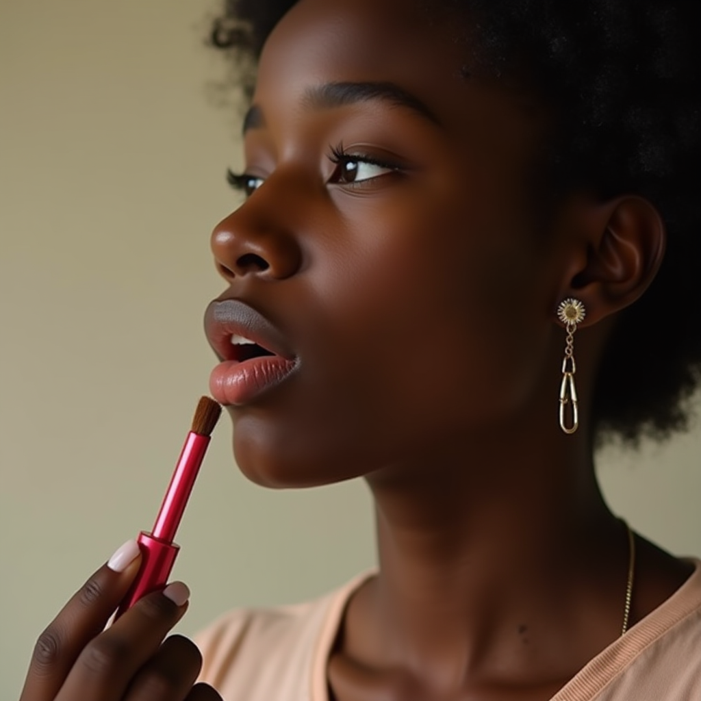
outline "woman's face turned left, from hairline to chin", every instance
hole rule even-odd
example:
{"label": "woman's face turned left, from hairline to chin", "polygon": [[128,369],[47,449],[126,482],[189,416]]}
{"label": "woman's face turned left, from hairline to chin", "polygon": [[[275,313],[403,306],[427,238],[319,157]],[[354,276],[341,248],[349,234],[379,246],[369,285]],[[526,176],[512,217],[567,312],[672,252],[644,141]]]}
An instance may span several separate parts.
{"label": "woman's face turned left, from hairline to chin", "polygon": [[301,0],[261,57],[255,189],[212,235],[219,299],[245,306],[207,313],[221,357],[243,357],[238,331],[292,358],[212,375],[261,484],[438,459],[527,412],[548,372],[556,283],[529,188],[543,112],[466,79],[454,18],[412,7]]}

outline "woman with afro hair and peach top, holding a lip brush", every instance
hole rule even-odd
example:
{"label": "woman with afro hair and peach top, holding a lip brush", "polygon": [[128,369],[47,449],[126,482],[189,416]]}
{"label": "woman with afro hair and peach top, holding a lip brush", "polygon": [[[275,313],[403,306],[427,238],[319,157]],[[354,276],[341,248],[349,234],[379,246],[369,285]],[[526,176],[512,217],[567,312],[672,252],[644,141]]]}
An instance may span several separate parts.
{"label": "woman with afro hair and peach top, holding a lip brush", "polygon": [[682,427],[694,388],[699,14],[231,3],[215,43],[259,64],[212,394],[255,482],[365,477],[379,569],[222,618],[193,686],[197,649],[161,645],[184,585],[100,632],[128,543],[22,701],[701,698],[701,562],[634,536],[593,459]]}

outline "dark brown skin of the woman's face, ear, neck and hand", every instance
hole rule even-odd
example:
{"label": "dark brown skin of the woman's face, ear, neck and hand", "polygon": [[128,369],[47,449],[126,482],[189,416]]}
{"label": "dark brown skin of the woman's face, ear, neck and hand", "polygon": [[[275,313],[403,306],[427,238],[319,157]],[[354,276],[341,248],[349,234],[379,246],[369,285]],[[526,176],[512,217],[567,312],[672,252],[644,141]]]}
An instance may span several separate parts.
{"label": "dark brown skin of the woman's face, ear, neck and hand", "polygon": [[[245,135],[260,186],[212,249],[221,299],[263,313],[301,362],[229,408],[234,452],[259,484],[372,489],[380,570],[343,615],[334,701],[545,701],[620,635],[627,538],[594,477],[587,408],[665,231],[635,193],[537,194],[547,110],[516,78],[465,80],[454,18],[410,7],[301,0],[266,44]],[[367,82],[421,107],[396,89],[318,90]],[[343,168],[329,159],[341,142]],[[566,297],[587,309],[572,436],[557,424]],[[217,698],[192,688],[186,642],[158,647],[185,606],[153,594],[100,633],[136,566],[101,569],[97,595],[69,601],[50,627],[60,654],[38,647],[22,701],[131,701],[163,670],[179,690],[149,701]],[[631,625],[689,574],[637,538]],[[92,695],[58,692],[94,674],[95,645]]]}

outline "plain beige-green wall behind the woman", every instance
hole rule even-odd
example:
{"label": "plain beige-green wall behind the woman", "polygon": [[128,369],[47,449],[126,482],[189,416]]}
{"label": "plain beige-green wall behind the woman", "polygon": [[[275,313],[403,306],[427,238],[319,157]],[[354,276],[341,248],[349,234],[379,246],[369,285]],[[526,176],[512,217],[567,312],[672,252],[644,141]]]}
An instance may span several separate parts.
{"label": "plain beige-green wall behind the woman", "polygon": [[[231,107],[208,88],[210,3],[0,0],[0,698],[36,634],[151,526],[213,356],[208,234],[235,206]],[[179,534],[192,632],[294,601],[373,562],[365,488],[268,492],[217,429]],[[606,493],[674,552],[701,554],[701,431],[609,452]]]}

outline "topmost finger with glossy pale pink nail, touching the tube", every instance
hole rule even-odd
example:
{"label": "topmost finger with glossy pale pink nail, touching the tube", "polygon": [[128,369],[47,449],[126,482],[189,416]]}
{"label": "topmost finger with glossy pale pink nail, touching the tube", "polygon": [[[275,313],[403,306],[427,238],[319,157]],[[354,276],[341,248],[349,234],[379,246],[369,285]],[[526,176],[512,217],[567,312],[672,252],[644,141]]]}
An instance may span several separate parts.
{"label": "topmost finger with glossy pale pink nail, touching the tube", "polygon": [[71,597],[34,645],[20,701],[50,701],[81,650],[104,629],[139,570],[136,540],[124,543]]}

